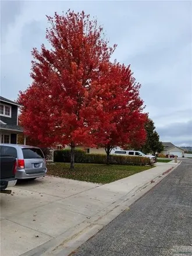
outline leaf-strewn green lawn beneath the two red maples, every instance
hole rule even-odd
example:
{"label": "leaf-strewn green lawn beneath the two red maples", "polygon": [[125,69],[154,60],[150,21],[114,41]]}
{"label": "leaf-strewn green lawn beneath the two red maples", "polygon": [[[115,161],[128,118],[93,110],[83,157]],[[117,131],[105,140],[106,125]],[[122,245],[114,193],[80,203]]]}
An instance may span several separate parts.
{"label": "leaf-strewn green lawn beneath the two red maples", "polygon": [[49,163],[47,175],[105,184],[151,168],[152,166],[75,163],[74,169],[70,170],[69,163]]}

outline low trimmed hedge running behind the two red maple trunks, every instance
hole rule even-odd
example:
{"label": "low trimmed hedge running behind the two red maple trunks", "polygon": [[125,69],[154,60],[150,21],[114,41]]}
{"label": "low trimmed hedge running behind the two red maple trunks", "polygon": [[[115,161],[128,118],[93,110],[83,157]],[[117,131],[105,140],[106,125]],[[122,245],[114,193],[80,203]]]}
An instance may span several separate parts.
{"label": "low trimmed hedge running behind the two red maple trunks", "polygon": [[[55,150],[54,162],[70,162],[70,150]],[[82,150],[75,150],[75,163],[106,163],[105,154],[86,154]],[[110,155],[112,165],[151,165],[150,158],[147,157],[128,157],[123,155]]]}

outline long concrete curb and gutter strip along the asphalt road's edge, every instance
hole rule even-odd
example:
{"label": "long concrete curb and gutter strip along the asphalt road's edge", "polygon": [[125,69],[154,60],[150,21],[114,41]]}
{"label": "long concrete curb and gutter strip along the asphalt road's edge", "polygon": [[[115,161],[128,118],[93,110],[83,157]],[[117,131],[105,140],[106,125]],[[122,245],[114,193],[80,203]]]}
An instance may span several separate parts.
{"label": "long concrete curb and gutter strip along the asphalt road's edge", "polygon": [[177,163],[176,166],[169,168],[161,175],[153,177],[152,180],[147,183],[145,182],[142,186],[134,187],[133,190],[129,191],[126,195],[123,195],[123,197],[119,198],[105,209],[102,209],[102,211],[87,218],[87,221],[70,228],[58,237],[51,239],[41,246],[27,251],[20,256],[67,256],[72,254],[74,250],[94,236],[104,226],[108,225],[108,223],[115,219],[121,212],[129,211],[131,204],[136,202],[145,193],[150,191],[152,187],[161,182],[161,180],[173,172],[173,170],[175,170],[181,163],[182,161]]}

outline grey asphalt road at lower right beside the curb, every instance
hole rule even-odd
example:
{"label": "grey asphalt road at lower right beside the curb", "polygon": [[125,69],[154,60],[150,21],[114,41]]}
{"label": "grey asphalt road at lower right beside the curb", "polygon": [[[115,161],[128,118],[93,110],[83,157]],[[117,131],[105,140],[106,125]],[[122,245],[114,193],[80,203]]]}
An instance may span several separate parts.
{"label": "grey asphalt road at lower right beside the curb", "polygon": [[192,159],[72,255],[192,256]]}

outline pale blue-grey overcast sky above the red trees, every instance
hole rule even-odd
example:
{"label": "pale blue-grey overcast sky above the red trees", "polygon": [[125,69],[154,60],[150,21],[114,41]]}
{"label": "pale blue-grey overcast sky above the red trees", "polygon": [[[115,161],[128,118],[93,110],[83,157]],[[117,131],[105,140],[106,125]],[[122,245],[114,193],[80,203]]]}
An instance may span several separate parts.
{"label": "pale blue-grey overcast sky above the red trees", "polygon": [[67,9],[96,16],[113,58],[131,65],[162,141],[192,146],[190,1],[1,1],[1,95],[16,99],[31,83],[31,49],[46,43],[45,15]]}

